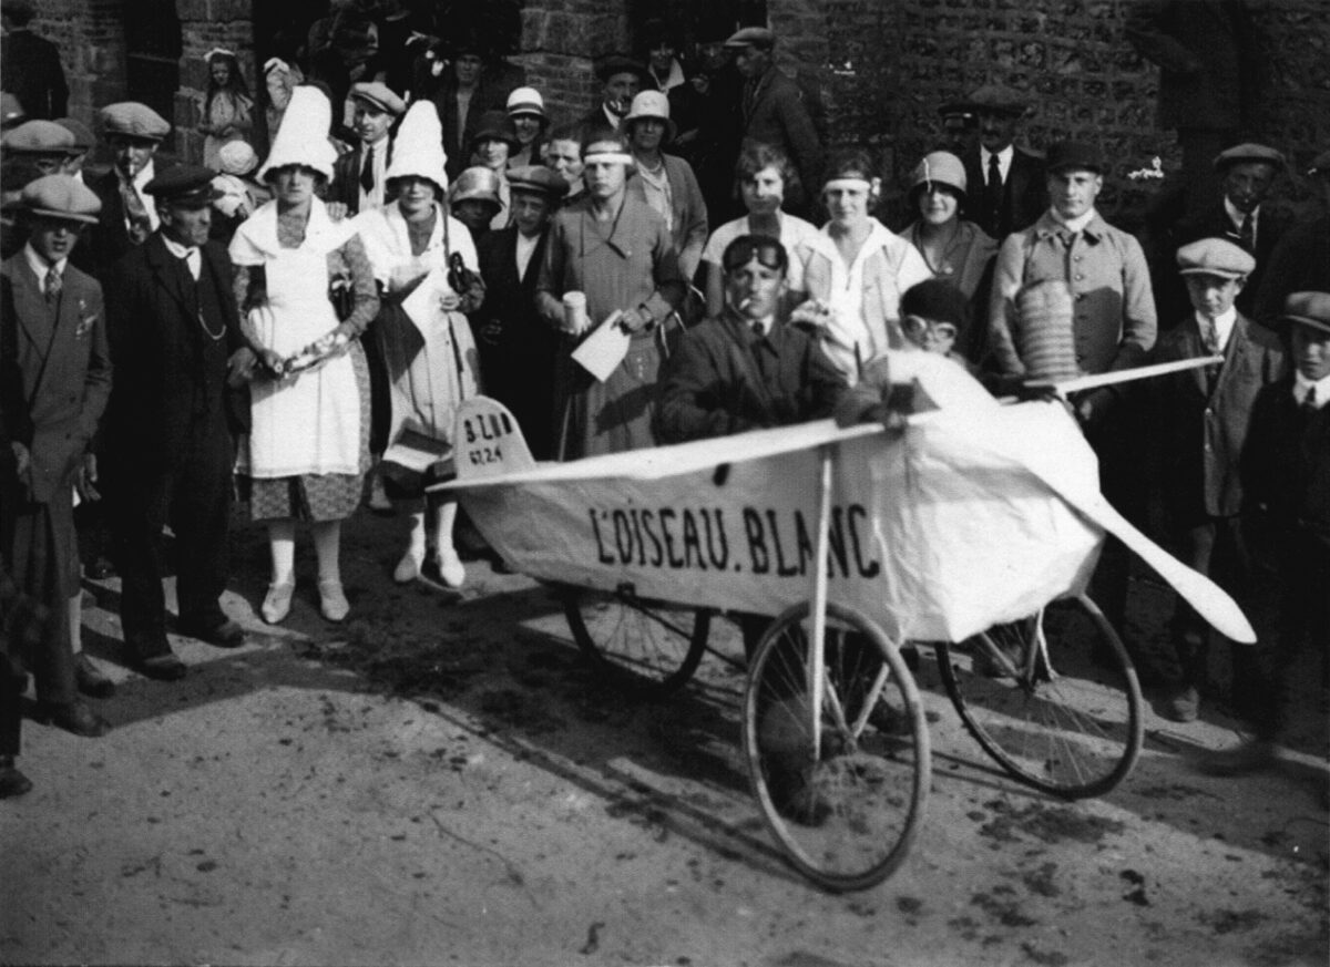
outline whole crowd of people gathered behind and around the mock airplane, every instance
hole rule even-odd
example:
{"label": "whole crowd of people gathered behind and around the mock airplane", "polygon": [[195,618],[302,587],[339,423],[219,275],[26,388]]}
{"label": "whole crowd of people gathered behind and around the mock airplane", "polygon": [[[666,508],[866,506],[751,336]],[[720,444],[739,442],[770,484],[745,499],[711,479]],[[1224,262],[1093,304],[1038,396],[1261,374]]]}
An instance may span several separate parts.
{"label": "whole crowd of people gathered behind and around the mock airplane", "polygon": [[[1269,761],[1281,671],[1311,642],[1325,673],[1330,644],[1330,215],[1266,210],[1281,151],[1217,147],[1216,194],[1190,186],[1142,246],[1096,209],[1100,150],[1017,146],[1027,102],[986,85],[939,105],[948,141],[892,215],[870,153],[826,150],[769,28],[685,57],[653,23],[644,58],[596,61],[596,102],[555,124],[473,39],[362,57],[372,27],[334,17],[322,45],[311,31],[305,62],[263,65],[257,100],[237,56],[211,50],[201,165],[166,165],[170,124],[117,102],[98,112],[112,167],[85,175],[94,135],[64,101],[5,94],[0,796],[31,786],[15,764],[28,672],[35,717],[109,728],[81,697],[114,689],[80,644],[85,572],[120,575],[125,663],[186,673],[166,526],[178,632],[233,648],[235,499],[267,531],[267,623],[291,608],[306,526],[322,615],[347,618],[340,526],[362,503],[410,518],[394,580],[464,583],[458,506],[427,487],[454,472],[469,396],[504,402],[537,460],[831,414],[899,429],[912,404],[892,360],[910,352],[995,395],[1212,360],[1071,409],[1104,494],[1140,522],[1162,494],[1186,563],[1240,600],[1279,570],[1279,626],[1236,677],[1257,739],[1218,768]],[[1330,153],[1313,175],[1330,206]],[[572,351],[604,327],[626,349],[601,379]],[[104,539],[81,554],[80,527]],[[1111,542],[1092,592],[1121,632],[1127,578]],[[746,622],[746,644],[759,632]],[[1169,717],[1197,717],[1209,638],[1180,606]]]}

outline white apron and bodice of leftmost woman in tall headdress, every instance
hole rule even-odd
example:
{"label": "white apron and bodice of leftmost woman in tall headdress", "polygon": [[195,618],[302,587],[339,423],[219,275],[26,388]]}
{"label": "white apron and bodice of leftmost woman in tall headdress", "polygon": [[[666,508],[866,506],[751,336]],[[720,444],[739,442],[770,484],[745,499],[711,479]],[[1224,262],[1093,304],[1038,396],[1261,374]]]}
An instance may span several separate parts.
{"label": "white apron and bodice of leftmost woman in tall headdress", "polygon": [[[354,232],[336,230],[315,199],[305,243],[299,248],[277,244],[277,206],[263,206],[247,222],[269,215],[247,242],[263,252],[267,274],[269,312],[255,312],[262,348],[289,357],[336,328],[329,302],[327,252]],[[269,226],[270,223],[270,226]],[[271,246],[266,230],[271,231]],[[237,232],[237,240],[241,239]],[[237,247],[233,242],[233,250]],[[241,262],[238,264],[253,264]],[[317,369],[282,380],[251,384],[247,453],[241,452],[239,470],[250,477],[275,480],[301,474],[360,473],[360,395],[351,356],[343,353]]]}

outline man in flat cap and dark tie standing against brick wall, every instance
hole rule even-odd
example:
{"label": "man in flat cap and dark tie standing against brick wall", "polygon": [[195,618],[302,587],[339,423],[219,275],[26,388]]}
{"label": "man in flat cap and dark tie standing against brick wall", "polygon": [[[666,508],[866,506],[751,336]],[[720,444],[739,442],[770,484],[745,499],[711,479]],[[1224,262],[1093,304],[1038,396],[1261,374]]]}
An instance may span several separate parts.
{"label": "man in flat cap and dark tie standing against brick wall", "polygon": [[1015,143],[1028,109],[1020,92],[998,84],[986,84],[940,109],[944,118],[964,114],[975,120],[979,143],[960,155],[974,199],[966,218],[998,242],[1028,228],[1048,207],[1043,158]]}

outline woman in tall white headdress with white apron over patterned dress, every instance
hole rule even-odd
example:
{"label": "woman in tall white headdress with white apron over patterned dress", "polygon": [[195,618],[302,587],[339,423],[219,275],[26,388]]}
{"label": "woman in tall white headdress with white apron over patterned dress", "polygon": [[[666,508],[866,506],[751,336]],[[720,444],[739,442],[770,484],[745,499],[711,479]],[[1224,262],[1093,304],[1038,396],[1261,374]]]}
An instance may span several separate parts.
{"label": "woman in tall white headdress with white apron over patterned dress", "polygon": [[259,177],[274,201],[241,223],[237,267],[241,328],[269,379],[251,385],[253,429],[238,469],[250,514],[266,521],[273,580],[263,620],[281,622],[295,588],[295,523],[309,521],[319,561],[319,610],[350,611],[342,591],[342,521],[360,502],[370,462],[370,375],[359,336],[379,309],[364,247],[317,197],[332,177],[332,109],[321,90],[291,94]]}

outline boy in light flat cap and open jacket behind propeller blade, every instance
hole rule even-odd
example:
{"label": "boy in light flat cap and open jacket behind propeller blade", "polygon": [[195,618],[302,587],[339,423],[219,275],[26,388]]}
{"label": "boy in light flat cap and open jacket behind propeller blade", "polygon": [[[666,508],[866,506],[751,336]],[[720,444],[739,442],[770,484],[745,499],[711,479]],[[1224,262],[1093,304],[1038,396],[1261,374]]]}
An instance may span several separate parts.
{"label": "boy in light flat cap and open jacket behind propeller blade", "polygon": [[[1150,385],[1157,393],[1150,412],[1160,444],[1160,487],[1176,553],[1240,599],[1253,583],[1240,461],[1257,393],[1285,369],[1279,339],[1234,306],[1254,266],[1250,254],[1220,238],[1177,250],[1192,312],[1160,339],[1154,357],[1173,363],[1216,356],[1222,363],[1169,373]],[[1166,719],[1185,723],[1198,715],[1209,632],[1178,599],[1170,636],[1181,675],[1161,708]],[[1236,675],[1249,654],[1234,647]]]}

